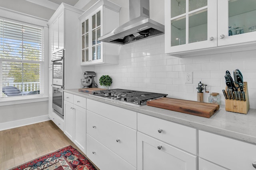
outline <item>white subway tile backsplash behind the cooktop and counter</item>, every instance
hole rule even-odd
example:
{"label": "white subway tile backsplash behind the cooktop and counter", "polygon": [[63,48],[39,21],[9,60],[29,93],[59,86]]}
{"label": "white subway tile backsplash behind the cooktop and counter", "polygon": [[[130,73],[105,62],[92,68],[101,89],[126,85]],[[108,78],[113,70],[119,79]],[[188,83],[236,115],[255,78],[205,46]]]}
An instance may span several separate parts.
{"label": "white subway tile backsplash behind the cooktop and counter", "polygon": [[[256,50],[178,58],[164,54],[164,35],[118,46],[119,64],[98,66],[95,81],[101,75],[110,75],[111,88],[126,88],[168,94],[170,98],[197,100],[196,87],[201,81],[206,89],[220,93],[226,83],[226,70],[238,68],[248,82],[250,108],[256,108]],[[84,70],[85,71],[85,70]],[[193,83],[185,83],[185,72],[193,72]],[[233,75],[232,75],[233,76]],[[204,102],[209,93],[204,90]]]}

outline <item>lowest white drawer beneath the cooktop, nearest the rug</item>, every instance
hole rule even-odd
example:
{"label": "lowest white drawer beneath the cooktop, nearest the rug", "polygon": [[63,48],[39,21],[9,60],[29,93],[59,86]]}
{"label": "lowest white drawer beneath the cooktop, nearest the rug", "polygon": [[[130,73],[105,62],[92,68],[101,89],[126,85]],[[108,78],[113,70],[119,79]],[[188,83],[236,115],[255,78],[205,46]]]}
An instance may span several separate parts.
{"label": "lowest white drawer beneath the cooktop, nearest the rug", "polygon": [[136,170],[135,167],[88,134],[86,134],[86,149],[86,156],[102,170]]}

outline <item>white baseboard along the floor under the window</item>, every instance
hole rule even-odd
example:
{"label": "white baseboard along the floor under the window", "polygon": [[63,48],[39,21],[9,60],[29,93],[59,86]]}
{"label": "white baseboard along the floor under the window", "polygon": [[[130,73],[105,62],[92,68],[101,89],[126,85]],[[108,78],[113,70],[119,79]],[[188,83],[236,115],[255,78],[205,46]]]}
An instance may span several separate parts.
{"label": "white baseboard along the floor under the window", "polygon": [[21,120],[16,120],[16,121],[9,121],[5,123],[0,123],[0,131],[6,130],[6,129],[12,129],[14,127],[20,127],[20,126],[25,126],[25,125],[31,125],[34,123],[39,123],[42,121],[48,121],[50,118],[48,115],[42,115],[38,117],[31,117],[28,119],[21,119]]}

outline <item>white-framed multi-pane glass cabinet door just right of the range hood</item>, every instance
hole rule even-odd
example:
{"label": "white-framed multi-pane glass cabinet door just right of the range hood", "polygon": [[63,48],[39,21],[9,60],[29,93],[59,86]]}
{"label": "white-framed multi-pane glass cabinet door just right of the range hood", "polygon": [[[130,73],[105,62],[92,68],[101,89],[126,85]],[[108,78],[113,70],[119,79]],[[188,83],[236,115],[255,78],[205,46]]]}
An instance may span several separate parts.
{"label": "white-framed multi-pane glass cabinet door just right of the range hood", "polygon": [[170,29],[171,52],[217,45],[217,0],[165,0],[165,6],[170,8],[165,22]]}

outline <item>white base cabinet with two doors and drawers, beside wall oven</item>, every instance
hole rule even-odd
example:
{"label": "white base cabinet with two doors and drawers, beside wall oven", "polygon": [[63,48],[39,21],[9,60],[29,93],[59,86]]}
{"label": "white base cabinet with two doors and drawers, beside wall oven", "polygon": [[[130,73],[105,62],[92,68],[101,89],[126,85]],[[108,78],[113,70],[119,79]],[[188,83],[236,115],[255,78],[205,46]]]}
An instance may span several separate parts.
{"label": "white base cabinet with two doors and drawers, beside wall oven", "polygon": [[64,92],[64,122],[64,134],[86,154],[86,98]]}

